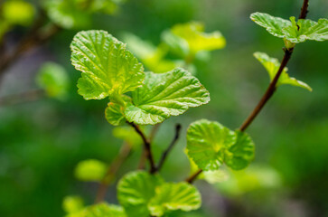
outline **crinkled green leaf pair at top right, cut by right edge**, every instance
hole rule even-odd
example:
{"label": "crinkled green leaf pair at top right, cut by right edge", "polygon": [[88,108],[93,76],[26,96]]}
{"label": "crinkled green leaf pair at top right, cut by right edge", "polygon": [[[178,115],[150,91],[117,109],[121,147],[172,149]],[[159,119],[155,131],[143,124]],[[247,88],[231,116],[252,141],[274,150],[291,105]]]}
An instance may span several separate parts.
{"label": "crinkled green leaf pair at top right, cut by right edge", "polygon": [[285,38],[289,42],[299,43],[306,40],[322,42],[328,40],[328,20],[319,19],[314,22],[308,19],[299,19],[290,17],[290,21],[274,17],[265,13],[254,13],[250,15],[252,21],[267,29],[279,38]]}

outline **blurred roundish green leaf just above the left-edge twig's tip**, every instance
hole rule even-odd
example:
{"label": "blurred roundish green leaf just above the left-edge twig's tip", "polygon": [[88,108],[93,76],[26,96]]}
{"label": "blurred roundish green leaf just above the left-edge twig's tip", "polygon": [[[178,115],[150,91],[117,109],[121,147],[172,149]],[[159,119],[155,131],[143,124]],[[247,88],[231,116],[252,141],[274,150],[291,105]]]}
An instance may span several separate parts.
{"label": "blurred roundish green leaf just above the left-edge twig's tip", "polygon": [[42,65],[36,81],[38,85],[52,98],[65,99],[68,95],[70,79],[67,71],[55,62]]}

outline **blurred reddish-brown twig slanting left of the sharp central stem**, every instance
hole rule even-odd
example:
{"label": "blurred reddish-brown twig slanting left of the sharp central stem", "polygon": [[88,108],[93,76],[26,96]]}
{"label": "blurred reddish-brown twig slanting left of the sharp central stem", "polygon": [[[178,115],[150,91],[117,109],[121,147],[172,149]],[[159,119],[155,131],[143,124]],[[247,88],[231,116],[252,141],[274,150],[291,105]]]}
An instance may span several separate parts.
{"label": "blurred reddish-brown twig slanting left of the sharp central stem", "polygon": [[103,178],[102,182],[98,186],[95,203],[100,203],[104,200],[106,196],[106,192],[108,190],[108,185],[114,180],[118,169],[126,161],[127,156],[129,156],[130,153],[131,153],[131,146],[125,142],[123,146],[120,148],[118,156],[108,166],[108,171],[105,177]]}

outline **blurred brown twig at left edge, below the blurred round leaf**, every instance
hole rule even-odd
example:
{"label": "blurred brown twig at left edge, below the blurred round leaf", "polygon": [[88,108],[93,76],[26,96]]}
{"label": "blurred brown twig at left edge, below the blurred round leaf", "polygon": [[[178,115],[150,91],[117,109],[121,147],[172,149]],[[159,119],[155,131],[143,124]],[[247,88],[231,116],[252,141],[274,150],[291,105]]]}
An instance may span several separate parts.
{"label": "blurred brown twig at left edge, below the blurred round leaf", "polygon": [[35,101],[45,96],[42,89],[28,90],[23,93],[18,93],[0,98],[0,107],[16,105],[24,102]]}

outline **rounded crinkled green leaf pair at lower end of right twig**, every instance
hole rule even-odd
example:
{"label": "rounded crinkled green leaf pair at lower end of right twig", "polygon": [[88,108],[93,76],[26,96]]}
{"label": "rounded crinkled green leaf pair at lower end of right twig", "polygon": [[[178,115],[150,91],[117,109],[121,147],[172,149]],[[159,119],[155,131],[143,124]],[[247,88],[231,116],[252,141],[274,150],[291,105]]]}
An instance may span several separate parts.
{"label": "rounded crinkled green leaf pair at lower end of right twig", "polygon": [[193,122],[188,128],[187,150],[204,171],[218,170],[223,163],[235,170],[243,169],[254,158],[254,143],[247,134],[206,119]]}

